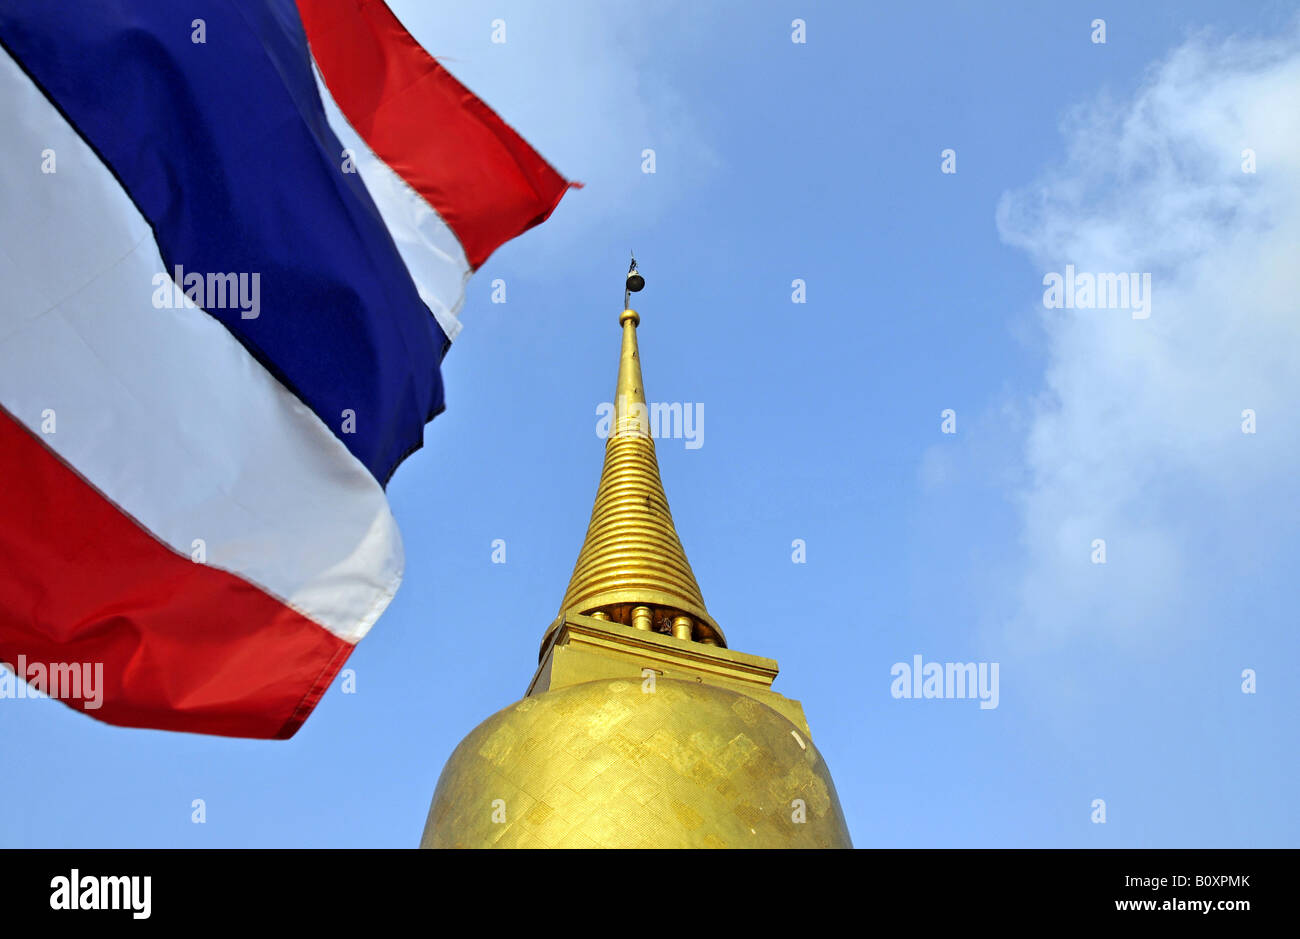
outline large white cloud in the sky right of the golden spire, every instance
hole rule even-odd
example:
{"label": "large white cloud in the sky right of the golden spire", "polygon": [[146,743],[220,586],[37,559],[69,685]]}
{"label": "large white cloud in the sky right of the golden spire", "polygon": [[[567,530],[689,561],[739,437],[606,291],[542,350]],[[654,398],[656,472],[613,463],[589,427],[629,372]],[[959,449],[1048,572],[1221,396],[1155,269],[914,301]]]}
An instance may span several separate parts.
{"label": "large white cloud in the sky right of the golden spire", "polygon": [[1037,307],[1015,632],[1156,642],[1243,572],[1294,575],[1269,553],[1295,550],[1300,505],[1300,31],[1197,38],[1062,131],[1063,164],[1002,196],[1002,239],[1043,273],[1152,272],[1153,300]]}

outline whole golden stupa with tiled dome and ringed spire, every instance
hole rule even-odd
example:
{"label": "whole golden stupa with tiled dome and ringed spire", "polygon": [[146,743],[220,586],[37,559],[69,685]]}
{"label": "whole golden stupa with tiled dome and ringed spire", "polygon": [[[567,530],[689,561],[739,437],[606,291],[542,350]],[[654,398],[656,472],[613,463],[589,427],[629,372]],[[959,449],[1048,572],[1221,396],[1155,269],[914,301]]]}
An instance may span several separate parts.
{"label": "whole golden stupa with tiled dome and ringed spire", "polygon": [[[628,294],[645,285],[628,273]],[[668,511],[624,308],[592,523],[524,698],[442,770],[422,848],[849,848],[776,662],[727,648]]]}

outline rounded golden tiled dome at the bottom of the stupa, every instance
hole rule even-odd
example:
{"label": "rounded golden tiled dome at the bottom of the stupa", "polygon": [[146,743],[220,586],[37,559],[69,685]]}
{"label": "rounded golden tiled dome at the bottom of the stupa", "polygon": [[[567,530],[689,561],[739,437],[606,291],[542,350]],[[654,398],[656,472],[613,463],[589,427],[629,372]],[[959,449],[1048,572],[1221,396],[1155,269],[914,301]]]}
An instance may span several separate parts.
{"label": "rounded golden tiled dome at the bottom of the stupa", "polygon": [[740,692],[655,685],[582,681],[488,718],[447,761],[422,847],[849,844],[805,731]]}

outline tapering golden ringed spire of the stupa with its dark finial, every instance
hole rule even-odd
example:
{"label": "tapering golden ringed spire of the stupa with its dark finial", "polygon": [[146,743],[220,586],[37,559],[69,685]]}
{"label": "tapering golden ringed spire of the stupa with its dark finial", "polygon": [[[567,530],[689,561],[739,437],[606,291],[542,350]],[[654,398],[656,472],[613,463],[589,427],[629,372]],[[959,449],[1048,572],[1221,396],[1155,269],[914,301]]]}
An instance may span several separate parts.
{"label": "tapering golden ringed spire of the stupa with its dark finial", "polygon": [[[628,271],[624,307],[629,295],[645,286],[636,264],[633,259]],[[560,614],[562,618],[566,611],[590,614],[638,629],[725,646],[723,631],[705,607],[659,480],[637,354],[640,323],[634,310],[625,308],[619,315],[623,351],[604,468]]]}

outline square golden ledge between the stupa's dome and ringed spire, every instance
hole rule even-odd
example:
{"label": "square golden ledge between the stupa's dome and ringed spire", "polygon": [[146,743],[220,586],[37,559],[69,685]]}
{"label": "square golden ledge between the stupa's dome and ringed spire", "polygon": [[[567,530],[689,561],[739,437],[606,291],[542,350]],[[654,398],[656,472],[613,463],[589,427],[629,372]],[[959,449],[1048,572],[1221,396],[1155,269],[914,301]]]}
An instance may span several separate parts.
{"label": "square golden ledge between the stupa's dome and ringed spire", "polygon": [[800,702],[771,689],[779,671],[775,659],[572,611],[556,618],[547,631],[551,639],[524,697],[601,679],[641,681],[642,668],[653,668],[660,678],[748,694],[811,737]]}

